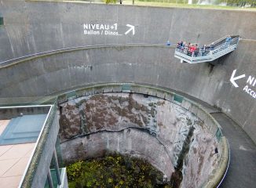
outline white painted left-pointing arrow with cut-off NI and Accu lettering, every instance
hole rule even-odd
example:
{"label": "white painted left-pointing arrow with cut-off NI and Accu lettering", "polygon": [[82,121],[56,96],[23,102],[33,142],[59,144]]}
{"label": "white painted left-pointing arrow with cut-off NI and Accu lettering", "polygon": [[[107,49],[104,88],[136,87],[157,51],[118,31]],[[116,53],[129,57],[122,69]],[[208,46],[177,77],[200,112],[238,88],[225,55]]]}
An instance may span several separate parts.
{"label": "white painted left-pointing arrow with cut-off NI and Accu lettering", "polygon": [[[239,85],[237,85],[236,80],[239,80],[241,78],[246,78],[246,77],[247,76],[245,74],[241,74],[239,76],[236,76],[236,70],[234,70],[232,72],[232,75],[231,75],[231,78],[229,79],[229,81],[232,83],[232,85],[234,85],[236,88],[238,88]],[[243,92],[246,92],[247,94],[249,94],[254,99],[256,99],[256,89],[254,88],[255,85],[256,85],[256,78],[249,75],[247,77],[246,85],[243,87]]]}

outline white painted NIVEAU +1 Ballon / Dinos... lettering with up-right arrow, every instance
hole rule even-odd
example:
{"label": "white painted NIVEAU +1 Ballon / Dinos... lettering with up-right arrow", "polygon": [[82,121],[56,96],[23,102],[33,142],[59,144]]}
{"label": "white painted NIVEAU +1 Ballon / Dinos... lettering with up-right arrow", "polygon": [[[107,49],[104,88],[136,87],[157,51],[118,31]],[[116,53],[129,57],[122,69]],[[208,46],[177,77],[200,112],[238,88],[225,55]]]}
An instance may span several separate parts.
{"label": "white painted NIVEAU +1 Ballon / Dinos... lettering with up-right arrow", "polygon": [[[118,24],[83,24],[83,34],[86,35],[112,35],[112,36],[122,36],[123,34],[135,34],[135,27],[131,24],[126,24],[126,26],[121,26],[119,28]],[[127,30],[128,27],[128,30]],[[125,31],[124,31],[125,30]]]}

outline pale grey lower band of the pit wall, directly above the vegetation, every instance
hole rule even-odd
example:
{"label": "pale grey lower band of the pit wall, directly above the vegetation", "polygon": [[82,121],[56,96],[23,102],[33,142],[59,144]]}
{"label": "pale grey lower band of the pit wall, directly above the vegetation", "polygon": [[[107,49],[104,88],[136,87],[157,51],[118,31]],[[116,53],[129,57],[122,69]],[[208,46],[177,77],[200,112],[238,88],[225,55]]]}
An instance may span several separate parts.
{"label": "pale grey lower band of the pit wall, directly above the vegetation", "polygon": [[[139,143],[139,144],[138,144]],[[141,157],[150,162],[170,179],[174,165],[159,141],[148,132],[125,129],[123,132],[99,132],[62,143],[64,160],[68,163],[87,158],[104,157],[118,152]]]}

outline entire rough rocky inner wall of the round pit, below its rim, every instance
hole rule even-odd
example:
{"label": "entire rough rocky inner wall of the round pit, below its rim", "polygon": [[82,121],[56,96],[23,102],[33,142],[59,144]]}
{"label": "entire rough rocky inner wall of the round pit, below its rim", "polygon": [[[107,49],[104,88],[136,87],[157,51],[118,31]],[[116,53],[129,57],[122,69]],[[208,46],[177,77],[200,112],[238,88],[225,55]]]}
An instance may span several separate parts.
{"label": "entire rough rocky inner wall of the round pit, below its rim", "polygon": [[69,100],[59,110],[60,146],[67,163],[108,152],[130,154],[148,160],[169,180],[180,179],[181,187],[200,186],[218,163],[214,136],[176,103],[106,93]]}

